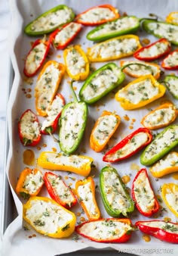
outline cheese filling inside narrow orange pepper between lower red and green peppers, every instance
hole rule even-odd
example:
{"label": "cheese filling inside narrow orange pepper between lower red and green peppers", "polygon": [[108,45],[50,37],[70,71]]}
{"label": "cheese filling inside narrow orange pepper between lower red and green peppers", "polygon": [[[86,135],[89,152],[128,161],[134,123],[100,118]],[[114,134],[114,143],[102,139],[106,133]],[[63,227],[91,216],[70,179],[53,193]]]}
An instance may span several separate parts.
{"label": "cheese filling inside narrow orange pepper between lower red and green peppers", "polygon": [[79,201],[82,201],[87,211],[93,216],[97,215],[97,208],[94,204],[94,197],[91,191],[91,183],[78,186],[78,196]]}

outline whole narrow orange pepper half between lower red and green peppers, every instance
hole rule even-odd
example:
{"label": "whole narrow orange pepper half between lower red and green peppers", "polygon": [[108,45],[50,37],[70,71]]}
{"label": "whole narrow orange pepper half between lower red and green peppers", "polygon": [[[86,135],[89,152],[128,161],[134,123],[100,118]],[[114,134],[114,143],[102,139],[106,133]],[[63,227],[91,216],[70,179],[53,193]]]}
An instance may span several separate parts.
{"label": "whole narrow orange pepper half between lower red and green peppers", "polygon": [[89,220],[100,219],[100,209],[95,198],[94,179],[89,176],[84,180],[78,180],[75,184],[75,192],[81,207]]}

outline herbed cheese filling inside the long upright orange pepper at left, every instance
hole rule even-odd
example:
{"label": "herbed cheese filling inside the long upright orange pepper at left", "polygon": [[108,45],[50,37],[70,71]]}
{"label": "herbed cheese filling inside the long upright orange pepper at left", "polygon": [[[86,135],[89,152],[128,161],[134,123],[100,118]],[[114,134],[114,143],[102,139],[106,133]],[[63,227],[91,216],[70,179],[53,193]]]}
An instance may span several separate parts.
{"label": "herbed cheese filling inside the long upright orange pepper at left", "polygon": [[38,95],[37,108],[45,111],[51,103],[56,91],[60,70],[57,65],[49,65],[36,83],[35,92]]}

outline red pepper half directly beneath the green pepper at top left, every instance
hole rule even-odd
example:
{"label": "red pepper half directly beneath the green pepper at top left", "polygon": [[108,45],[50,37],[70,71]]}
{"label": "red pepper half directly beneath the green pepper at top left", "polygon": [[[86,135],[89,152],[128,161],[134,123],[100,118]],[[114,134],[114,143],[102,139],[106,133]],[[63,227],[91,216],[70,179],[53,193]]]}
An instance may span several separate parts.
{"label": "red pepper half directly beneath the green pepper at top left", "polygon": [[75,39],[81,31],[81,27],[82,26],[79,23],[68,23],[51,33],[50,42],[52,42],[55,48],[64,49],[73,39]]}

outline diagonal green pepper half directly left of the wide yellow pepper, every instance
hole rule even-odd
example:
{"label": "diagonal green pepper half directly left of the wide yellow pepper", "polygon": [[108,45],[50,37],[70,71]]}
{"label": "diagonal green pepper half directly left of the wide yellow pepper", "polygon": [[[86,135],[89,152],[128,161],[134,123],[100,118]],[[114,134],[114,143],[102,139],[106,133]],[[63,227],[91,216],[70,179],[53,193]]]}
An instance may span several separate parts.
{"label": "diagonal green pepper half directly left of the wide yellow pepper", "polygon": [[80,89],[79,97],[81,101],[92,104],[120,85],[124,78],[124,73],[115,63],[106,64],[87,78]]}

